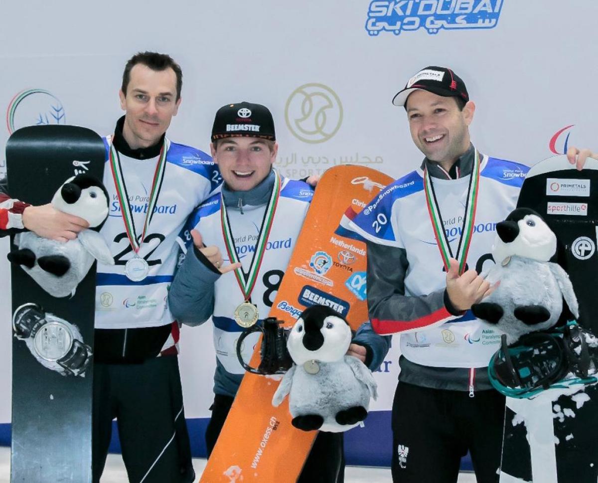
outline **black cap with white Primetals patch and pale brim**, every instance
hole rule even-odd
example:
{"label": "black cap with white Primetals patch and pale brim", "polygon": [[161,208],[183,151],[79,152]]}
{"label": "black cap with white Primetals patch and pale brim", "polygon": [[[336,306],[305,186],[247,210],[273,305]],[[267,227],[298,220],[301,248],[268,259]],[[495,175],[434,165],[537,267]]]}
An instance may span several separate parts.
{"label": "black cap with white Primetals patch and pale brim", "polygon": [[446,67],[431,65],[417,72],[407,81],[405,88],[393,97],[392,103],[395,106],[405,106],[409,94],[416,90],[426,90],[443,97],[460,97],[465,102],[469,100],[465,82]]}

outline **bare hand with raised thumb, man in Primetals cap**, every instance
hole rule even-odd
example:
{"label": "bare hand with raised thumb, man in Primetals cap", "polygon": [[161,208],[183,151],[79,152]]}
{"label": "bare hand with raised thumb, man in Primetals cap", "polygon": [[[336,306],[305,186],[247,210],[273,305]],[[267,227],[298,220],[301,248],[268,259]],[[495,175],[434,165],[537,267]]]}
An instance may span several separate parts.
{"label": "bare hand with raised thumb, man in Primetals cap", "polygon": [[471,268],[459,275],[459,262],[454,258],[449,259],[450,267],[447,272],[447,295],[453,307],[463,311],[479,302],[485,296],[492,294],[494,287],[480,277],[477,271]]}

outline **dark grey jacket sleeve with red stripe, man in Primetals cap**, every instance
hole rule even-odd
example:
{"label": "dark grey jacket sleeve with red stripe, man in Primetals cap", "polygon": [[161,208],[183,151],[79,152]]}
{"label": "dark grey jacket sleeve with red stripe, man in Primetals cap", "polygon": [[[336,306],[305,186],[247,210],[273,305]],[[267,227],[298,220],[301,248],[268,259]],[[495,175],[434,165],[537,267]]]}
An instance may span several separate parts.
{"label": "dark grey jacket sleeve with red stripe, man in Primetals cap", "polygon": [[405,295],[409,263],[403,248],[368,242],[367,298],[371,325],[377,334],[396,334],[440,325],[461,316],[446,289],[422,296]]}

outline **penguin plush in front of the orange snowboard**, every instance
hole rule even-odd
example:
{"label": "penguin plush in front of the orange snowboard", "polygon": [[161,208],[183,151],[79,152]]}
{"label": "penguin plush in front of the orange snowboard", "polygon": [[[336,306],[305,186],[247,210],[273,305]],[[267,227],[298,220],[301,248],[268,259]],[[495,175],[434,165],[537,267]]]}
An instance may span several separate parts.
{"label": "penguin plush in front of the orange snowboard", "polygon": [[286,343],[295,364],[272,399],[278,406],[289,395],[293,426],[338,433],[367,416],[377,385],[361,360],[346,355],[351,338],[346,320],[323,305],[306,308],[295,322]]}

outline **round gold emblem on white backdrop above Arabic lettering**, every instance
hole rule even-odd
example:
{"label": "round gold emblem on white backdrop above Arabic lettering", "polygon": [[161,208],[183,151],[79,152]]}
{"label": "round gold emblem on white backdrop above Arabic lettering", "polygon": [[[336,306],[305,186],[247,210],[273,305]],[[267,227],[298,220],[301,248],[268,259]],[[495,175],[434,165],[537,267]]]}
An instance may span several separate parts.
{"label": "round gold emblem on white backdrop above Arabic lettering", "polygon": [[308,143],[327,141],[343,122],[343,105],[324,84],[304,84],[289,96],[285,106],[286,126],[297,139]]}

